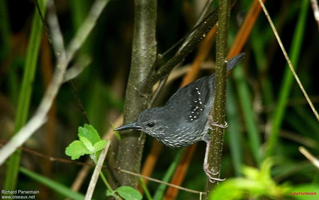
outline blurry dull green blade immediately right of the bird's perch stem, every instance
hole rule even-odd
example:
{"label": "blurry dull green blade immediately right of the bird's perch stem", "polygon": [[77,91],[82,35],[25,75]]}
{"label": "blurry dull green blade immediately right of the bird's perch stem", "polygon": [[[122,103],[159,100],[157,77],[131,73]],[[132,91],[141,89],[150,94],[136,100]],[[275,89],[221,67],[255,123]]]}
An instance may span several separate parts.
{"label": "blurry dull green blade immediately right of the bird's perch stem", "polygon": [[238,105],[235,100],[234,87],[230,82],[227,83],[227,103],[226,103],[226,117],[229,127],[227,128],[229,137],[230,153],[234,164],[234,171],[236,176],[241,176],[242,166],[242,139],[240,131],[240,122],[238,118]]}

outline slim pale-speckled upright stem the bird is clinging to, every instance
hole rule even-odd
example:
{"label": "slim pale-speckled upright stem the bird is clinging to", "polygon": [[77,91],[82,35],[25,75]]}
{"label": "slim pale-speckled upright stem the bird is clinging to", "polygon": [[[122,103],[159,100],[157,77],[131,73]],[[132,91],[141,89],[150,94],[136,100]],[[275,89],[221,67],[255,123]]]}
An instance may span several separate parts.
{"label": "slim pale-speckled upright stem the bird is clinging to", "polygon": [[[212,119],[223,124],[226,114],[226,67],[227,67],[227,42],[228,42],[228,21],[230,12],[230,0],[220,0],[219,21],[216,42],[216,80],[214,92],[214,105]],[[211,142],[208,152],[209,169],[220,172],[220,161],[223,150],[224,128],[216,127],[211,131]],[[219,178],[219,173],[215,176]],[[215,183],[207,181],[207,199]]]}

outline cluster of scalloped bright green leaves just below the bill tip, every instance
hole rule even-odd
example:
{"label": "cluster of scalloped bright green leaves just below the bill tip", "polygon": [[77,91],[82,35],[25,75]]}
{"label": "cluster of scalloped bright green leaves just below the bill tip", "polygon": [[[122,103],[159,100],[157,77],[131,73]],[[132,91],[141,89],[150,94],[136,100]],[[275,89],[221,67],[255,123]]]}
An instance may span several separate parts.
{"label": "cluster of scalloped bright green leaves just below the bill tip", "polygon": [[95,128],[88,124],[78,128],[78,137],[80,140],[73,141],[65,149],[65,154],[71,156],[72,160],[78,159],[81,155],[97,153],[108,143],[101,140]]}

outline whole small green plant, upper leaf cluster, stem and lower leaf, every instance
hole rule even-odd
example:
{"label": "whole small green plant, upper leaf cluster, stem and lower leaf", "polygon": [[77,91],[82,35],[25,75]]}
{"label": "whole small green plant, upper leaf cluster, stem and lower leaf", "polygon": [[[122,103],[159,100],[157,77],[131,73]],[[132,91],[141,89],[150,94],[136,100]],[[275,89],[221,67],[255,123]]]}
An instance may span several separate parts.
{"label": "whole small green plant, upper leaf cluster, stem and lower leaf", "polygon": [[[97,162],[101,150],[109,141],[101,140],[100,135],[92,125],[85,124],[84,127],[78,128],[79,140],[73,141],[66,149],[65,154],[71,156],[72,160],[78,159],[82,155],[90,155],[94,163]],[[112,190],[108,181],[102,172],[100,176],[107,187],[107,196],[113,196],[116,199],[122,197],[125,200],[140,200],[142,195],[130,186],[121,186]],[[120,197],[119,197],[120,196]]]}

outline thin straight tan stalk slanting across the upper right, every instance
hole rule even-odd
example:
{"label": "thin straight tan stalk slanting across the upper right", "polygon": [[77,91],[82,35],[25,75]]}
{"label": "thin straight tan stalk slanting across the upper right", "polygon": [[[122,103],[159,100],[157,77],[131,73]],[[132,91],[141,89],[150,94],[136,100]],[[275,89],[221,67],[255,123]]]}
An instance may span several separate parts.
{"label": "thin straight tan stalk slanting across the upper right", "polygon": [[291,64],[291,61],[290,61],[290,59],[289,59],[289,57],[288,57],[288,54],[287,54],[287,52],[286,52],[286,49],[285,49],[284,45],[283,45],[282,42],[281,42],[281,39],[280,39],[280,37],[279,37],[279,35],[278,35],[278,32],[277,32],[277,30],[276,30],[276,28],[275,28],[275,25],[272,23],[272,20],[271,20],[271,18],[270,18],[270,16],[269,16],[269,13],[268,13],[268,11],[267,11],[265,5],[263,4],[262,0],[258,0],[258,1],[259,1],[259,3],[260,3],[261,7],[263,8],[263,11],[264,11],[264,13],[265,13],[265,15],[266,15],[266,17],[267,17],[267,19],[268,19],[268,21],[269,21],[269,24],[270,24],[270,26],[271,26],[271,29],[272,29],[272,31],[274,32],[274,34],[275,34],[275,36],[276,36],[276,38],[277,38],[277,41],[278,41],[278,43],[279,43],[279,46],[280,46],[280,48],[281,48],[281,50],[282,50],[282,52],[283,52],[283,54],[284,54],[284,56],[285,56],[285,58],[286,58],[286,60],[287,60],[288,66],[289,66],[291,72],[293,73],[293,76],[295,77],[295,79],[296,79],[296,81],[297,81],[297,83],[298,83],[298,85],[299,85],[299,87],[300,87],[302,93],[305,95],[305,97],[306,97],[306,99],[307,99],[307,101],[308,101],[308,104],[309,104],[309,106],[310,106],[311,109],[312,109],[312,112],[315,114],[315,117],[316,117],[317,120],[319,121],[318,112],[316,111],[314,105],[312,104],[311,100],[309,99],[306,90],[303,88],[303,86],[302,86],[302,84],[301,84],[301,82],[300,82],[300,80],[299,80],[299,78],[298,78],[298,76],[297,76],[297,74],[296,74],[296,72],[295,72],[295,70],[294,70],[294,68],[293,68],[293,65]]}

